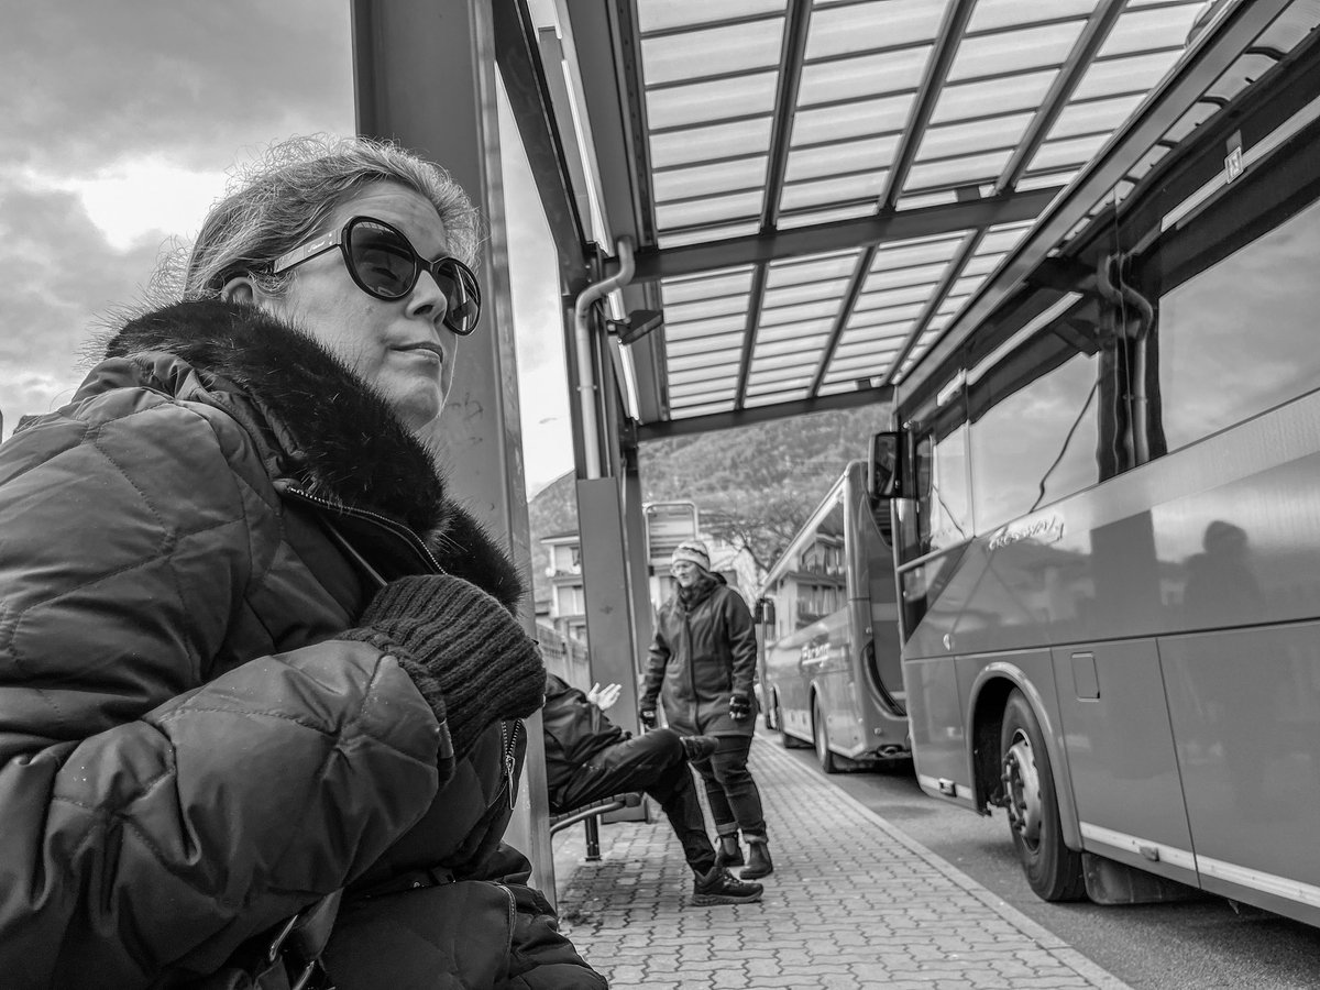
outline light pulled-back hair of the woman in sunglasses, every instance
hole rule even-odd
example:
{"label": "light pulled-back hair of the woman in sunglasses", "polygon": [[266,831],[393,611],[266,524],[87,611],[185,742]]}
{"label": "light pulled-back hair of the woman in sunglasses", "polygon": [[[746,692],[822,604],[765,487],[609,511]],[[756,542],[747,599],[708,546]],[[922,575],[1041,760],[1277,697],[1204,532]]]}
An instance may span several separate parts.
{"label": "light pulled-back hair of the woman in sunglasses", "polygon": [[228,279],[248,273],[279,296],[290,273],[271,275],[275,259],[322,232],[341,203],[376,182],[425,197],[445,224],[449,252],[474,264],[480,219],[445,169],[389,141],[314,135],[280,141],[239,170],[193,247],[162,261],[157,288],[173,282],[183,298],[211,298]]}

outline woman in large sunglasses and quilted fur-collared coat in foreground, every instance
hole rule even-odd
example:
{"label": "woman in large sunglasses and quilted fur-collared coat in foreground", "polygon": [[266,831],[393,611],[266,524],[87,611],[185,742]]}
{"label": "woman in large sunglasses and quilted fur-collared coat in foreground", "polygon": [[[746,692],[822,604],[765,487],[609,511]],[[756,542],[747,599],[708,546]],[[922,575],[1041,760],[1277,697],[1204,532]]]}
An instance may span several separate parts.
{"label": "woman in large sunglasses and quilted fur-collared coat in foreground", "polygon": [[477,236],[279,147],[0,446],[7,987],[605,986],[502,843],[545,675],[436,444]]}

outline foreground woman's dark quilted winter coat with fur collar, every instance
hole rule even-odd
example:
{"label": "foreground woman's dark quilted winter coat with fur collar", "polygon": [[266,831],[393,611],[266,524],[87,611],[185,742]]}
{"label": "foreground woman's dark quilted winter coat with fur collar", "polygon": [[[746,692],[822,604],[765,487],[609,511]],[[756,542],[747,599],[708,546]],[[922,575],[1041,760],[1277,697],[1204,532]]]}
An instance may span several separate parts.
{"label": "foreground woman's dark quilted winter coat with fur collar", "polygon": [[0,447],[7,987],[189,986],[420,849],[492,867],[500,726],[441,788],[432,708],[335,639],[375,590],[343,545],[521,594],[388,407],[248,306],[133,321]]}

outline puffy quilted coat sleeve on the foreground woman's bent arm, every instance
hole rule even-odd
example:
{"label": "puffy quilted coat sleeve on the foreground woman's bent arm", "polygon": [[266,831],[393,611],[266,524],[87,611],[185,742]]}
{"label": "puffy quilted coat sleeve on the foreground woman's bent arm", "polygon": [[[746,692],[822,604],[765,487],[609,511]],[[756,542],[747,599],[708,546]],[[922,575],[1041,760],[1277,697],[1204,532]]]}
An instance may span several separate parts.
{"label": "puffy quilted coat sleeve on the foreground woman's bent arm", "polygon": [[116,401],[0,447],[7,986],[209,972],[366,869],[438,785],[440,725],[375,647],[209,680],[279,513],[222,413]]}

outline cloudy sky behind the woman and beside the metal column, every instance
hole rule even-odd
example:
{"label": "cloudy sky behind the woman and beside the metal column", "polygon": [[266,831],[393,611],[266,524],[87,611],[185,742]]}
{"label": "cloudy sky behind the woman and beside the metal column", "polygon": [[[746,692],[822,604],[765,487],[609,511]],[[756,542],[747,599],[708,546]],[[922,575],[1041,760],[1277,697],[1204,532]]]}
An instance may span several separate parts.
{"label": "cloudy sky behind the woman and beside the metal column", "polygon": [[[141,297],[236,162],[290,135],[351,133],[354,116],[347,0],[0,0],[0,24],[8,436],[73,395],[88,333]],[[512,150],[508,213],[535,216]],[[562,331],[546,235],[532,222],[510,242],[535,492],[573,466]]]}

